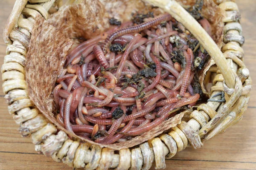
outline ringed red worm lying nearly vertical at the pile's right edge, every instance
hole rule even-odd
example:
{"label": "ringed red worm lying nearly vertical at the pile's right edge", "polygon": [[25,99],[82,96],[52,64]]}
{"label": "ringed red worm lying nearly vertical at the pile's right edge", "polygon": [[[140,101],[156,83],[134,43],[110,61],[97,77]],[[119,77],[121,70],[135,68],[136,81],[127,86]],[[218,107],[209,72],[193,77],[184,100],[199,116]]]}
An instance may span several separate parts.
{"label": "ringed red worm lying nearly vertical at the pile's right edge", "polygon": [[190,71],[191,71],[191,56],[186,51],[183,51],[183,55],[186,59],[186,67],[185,67],[185,74],[182,79],[182,84],[180,87],[180,96],[183,96],[186,93],[186,89],[189,85],[189,77],[190,77]]}

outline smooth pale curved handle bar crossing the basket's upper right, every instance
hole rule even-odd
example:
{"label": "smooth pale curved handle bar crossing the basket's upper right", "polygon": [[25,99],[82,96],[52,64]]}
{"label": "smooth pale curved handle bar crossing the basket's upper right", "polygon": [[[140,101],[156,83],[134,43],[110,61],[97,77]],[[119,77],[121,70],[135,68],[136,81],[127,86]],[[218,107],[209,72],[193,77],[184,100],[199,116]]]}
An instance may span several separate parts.
{"label": "smooth pale curved handle bar crossing the basket's upper right", "polygon": [[234,88],[236,81],[235,75],[227,63],[227,59],[224,57],[221,50],[218,48],[216,43],[207,34],[204,28],[193,18],[179,3],[175,0],[146,0],[149,3],[154,4],[168,12],[178,22],[182,23],[203,45],[216,65],[221,71],[226,84],[229,88]]}

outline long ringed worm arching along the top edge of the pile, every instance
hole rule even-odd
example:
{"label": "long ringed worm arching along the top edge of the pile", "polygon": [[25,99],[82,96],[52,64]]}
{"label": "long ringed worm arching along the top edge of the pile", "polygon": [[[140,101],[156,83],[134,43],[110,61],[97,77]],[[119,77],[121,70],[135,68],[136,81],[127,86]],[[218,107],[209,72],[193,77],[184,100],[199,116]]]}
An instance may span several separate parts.
{"label": "long ringed worm arching along the top edge of the pile", "polygon": [[150,20],[148,22],[145,23],[141,23],[137,26],[131,26],[128,28],[121,28],[118,29],[117,31],[114,31],[112,34],[110,34],[108,36],[108,38],[105,40],[104,44],[103,44],[103,52],[106,54],[107,49],[109,48],[111,42],[116,39],[116,37],[122,36],[124,34],[131,34],[131,33],[135,33],[135,32],[139,32],[142,31],[144,29],[150,28],[151,26],[154,26],[158,23],[161,23],[163,21],[168,21],[171,20],[172,16],[170,14],[162,14],[159,15],[157,17],[155,17],[153,20]]}

